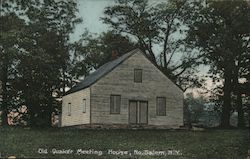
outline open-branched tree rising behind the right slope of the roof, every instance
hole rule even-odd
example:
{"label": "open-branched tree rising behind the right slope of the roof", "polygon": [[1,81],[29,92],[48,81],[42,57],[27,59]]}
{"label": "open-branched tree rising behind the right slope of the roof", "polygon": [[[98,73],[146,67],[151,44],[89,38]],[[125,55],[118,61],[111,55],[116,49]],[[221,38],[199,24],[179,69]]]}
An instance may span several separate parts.
{"label": "open-branched tree rising behind the right slope of the roof", "polygon": [[116,5],[105,9],[102,20],[117,33],[136,41],[153,63],[187,89],[190,85],[199,85],[195,66],[201,62],[199,52],[183,43],[188,30],[183,17],[191,14],[190,6],[192,2],[178,0],[156,4],[118,0]]}

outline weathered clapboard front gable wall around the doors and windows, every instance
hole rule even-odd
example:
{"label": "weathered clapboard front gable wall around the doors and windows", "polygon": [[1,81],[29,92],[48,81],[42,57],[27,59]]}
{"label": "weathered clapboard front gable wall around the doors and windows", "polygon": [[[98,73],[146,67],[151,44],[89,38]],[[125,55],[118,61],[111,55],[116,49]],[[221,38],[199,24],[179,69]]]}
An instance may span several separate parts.
{"label": "weathered clapboard front gable wall around the doors and windows", "polygon": [[[142,69],[142,83],[134,82]],[[110,114],[110,95],[121,95],[120,114]],[[166,97],[166,116],[156,115],[156,97]],[[128,124],[129,100],[148,101],[149,125],[183,125],[183,92],[140,51],[91,86],[91,123]]]}

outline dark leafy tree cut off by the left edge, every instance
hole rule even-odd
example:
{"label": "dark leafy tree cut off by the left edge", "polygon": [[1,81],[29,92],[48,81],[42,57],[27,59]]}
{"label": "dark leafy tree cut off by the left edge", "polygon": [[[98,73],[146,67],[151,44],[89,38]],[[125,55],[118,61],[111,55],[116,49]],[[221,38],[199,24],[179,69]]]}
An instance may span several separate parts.
{"label": "dark leafy tree cut off by the left edge", "polygon": [[[19,6],[19,5],[17,5]],[[15,65],[18,62],[19,41],[25,22],[14,10],[16,5],[11,3],[1,3],[0,17],[0,83],[2,101],[0,103],[2,111],[2,125],[7,125],[7,114],[10,107],[16,102],[13,99],[17,92],[12,89],[13,74],[16,73]],[[24,6],[23,6],[24,7]]]}

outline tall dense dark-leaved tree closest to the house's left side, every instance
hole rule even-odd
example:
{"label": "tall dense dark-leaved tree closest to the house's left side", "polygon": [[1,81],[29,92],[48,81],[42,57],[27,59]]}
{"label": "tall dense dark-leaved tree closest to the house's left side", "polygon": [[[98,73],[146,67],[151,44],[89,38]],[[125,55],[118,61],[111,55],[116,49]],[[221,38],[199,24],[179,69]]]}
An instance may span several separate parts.
{"label": "tall dense dark-leaved tree closest to the house's left side", "polygon": [[31,125],[51,125],[53,103],[60,93],[64,71],[69,61],[69,34],[75,24],[77,5],[68,1],[44,1],[27,10],[27,52],[19,65],[23,98],[28,106]]}

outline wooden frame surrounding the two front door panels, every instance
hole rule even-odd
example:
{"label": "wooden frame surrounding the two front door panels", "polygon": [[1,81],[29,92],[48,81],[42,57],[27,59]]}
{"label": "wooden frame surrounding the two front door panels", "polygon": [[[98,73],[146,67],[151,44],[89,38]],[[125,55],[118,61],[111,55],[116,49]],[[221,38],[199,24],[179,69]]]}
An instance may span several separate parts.
{"label": "wooden frame surrounding the two front door panels", "polygon": [[[136,102],[136,123],[130,123],[130,102]],[[145,102],[147,103],[147,122],[146,123],[139,123],[140,118],[140,105],[138,103]],[[147,100],[128,100],[128,124],[129,125],[148,125],[148,101]]]}

